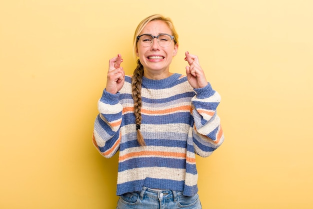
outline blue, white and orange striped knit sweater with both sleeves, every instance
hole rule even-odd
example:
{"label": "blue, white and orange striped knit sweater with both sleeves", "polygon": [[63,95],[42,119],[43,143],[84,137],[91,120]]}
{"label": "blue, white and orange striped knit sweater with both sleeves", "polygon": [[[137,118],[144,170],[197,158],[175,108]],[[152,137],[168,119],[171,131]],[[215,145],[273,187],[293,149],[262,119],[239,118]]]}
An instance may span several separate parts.
{"label": "blue, white and orange striped knit sweater with both sleeves", "polygon": [[186,76],[162,80],[142,78],[140,131],[146,146],[136,140],[131,77],[117,94],[103,91],[94,122],[93,144],[104,157],[119,150],[116,194],[140,191],[142,186],[197,192],[195,154],[209,156],[222,142],[216,108],[220,96],[211,85],[193,89]]}

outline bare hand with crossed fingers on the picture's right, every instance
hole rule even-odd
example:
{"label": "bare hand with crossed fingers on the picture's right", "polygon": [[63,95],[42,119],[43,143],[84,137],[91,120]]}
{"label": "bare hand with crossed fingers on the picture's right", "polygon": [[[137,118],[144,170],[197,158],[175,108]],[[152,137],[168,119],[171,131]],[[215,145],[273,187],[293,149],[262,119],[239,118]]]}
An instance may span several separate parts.
{"label": "bare hand with crossed fingers on the picture's right", "polygon": [[203,88],[207,85],[207,81],[202,68],[200,67],[198,57],[185,52],[186,75],[190,86],[194,89]]}

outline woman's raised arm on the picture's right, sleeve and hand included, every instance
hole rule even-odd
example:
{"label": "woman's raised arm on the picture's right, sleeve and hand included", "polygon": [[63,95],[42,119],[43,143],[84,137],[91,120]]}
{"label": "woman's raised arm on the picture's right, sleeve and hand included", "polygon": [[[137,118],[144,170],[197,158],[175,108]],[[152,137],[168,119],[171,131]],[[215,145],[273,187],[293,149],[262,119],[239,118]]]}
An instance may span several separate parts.
{"label": "woman's raised arm on the picture's right, sleeve and hand included", "polygon": [[185,53],[186,75],[188,82],[196,95],[192,98],[193,115],[193,146],[195,152],[202,156],[209,156],[224,140],[220,126],[220,119],[216,108],[220,102],[219,94],[207,83],[204,72],[199,65],[198,58]]}

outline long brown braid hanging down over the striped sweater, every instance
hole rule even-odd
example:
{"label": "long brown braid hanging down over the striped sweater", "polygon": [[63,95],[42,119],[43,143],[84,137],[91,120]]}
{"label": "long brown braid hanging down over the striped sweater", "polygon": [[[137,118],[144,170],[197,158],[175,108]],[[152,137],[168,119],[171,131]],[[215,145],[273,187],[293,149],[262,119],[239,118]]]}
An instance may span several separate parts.
{"label": "long brown braid hanging down over the striped sweater", "polygon": [[135,123],[136,123],[136,130],[137,130],[137,141],[140,146],[145,146],[144,139],[140,132],[140,125],[141,125],[141,83],[142,83],[142,76],[143,76],[143,66],[141,65],[139,59],[137,60],[137,67],[133,71],[133,75],[131,78],[131,89],[132,89],[132,98],[133,98],[133,112],[135,115]]}

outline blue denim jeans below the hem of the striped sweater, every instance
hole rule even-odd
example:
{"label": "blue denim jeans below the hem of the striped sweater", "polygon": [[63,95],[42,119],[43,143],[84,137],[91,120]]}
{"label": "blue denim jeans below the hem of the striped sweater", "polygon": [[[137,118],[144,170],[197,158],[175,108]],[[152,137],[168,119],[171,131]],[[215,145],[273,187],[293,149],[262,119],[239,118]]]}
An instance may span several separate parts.
{"label": "blue denim jeans below the hem of the striped sweater", "polygon": [[155,190],[147,187],[121,195],[116,209],[201,209],[198,194],[184,196],[182,191]]}

